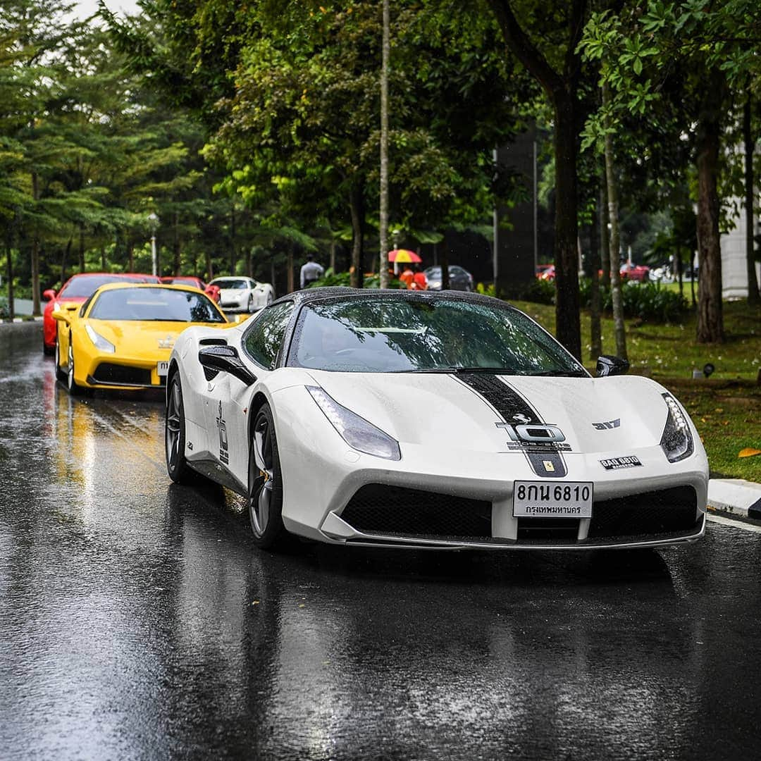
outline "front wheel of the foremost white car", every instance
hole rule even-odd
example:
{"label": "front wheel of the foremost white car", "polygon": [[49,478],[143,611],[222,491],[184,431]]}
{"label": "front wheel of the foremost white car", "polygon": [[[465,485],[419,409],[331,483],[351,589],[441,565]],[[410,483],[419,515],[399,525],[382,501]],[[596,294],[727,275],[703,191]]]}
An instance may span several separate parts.
{"label": "front wheel of the foremost white car", "polygon": [[275,423],[269,404],[256,412],[248,451],[248,514],[253,542],[261,549],[282,546],[283,486]]}

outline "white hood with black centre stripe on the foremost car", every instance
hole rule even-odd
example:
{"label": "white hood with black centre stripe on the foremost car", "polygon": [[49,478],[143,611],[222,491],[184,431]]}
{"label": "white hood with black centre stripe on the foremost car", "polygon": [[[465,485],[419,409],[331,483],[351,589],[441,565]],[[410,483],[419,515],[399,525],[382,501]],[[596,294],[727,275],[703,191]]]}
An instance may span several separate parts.
{"label": "white hood with black centre stripe on the foremost car", "polygon": [[498,423],[543,422],[560,429],[568,451],[626,454],[658,444],[667,415],[664,389],[643,377],[310,374],[336,402],[400,443],[502,451],[509,433]]}

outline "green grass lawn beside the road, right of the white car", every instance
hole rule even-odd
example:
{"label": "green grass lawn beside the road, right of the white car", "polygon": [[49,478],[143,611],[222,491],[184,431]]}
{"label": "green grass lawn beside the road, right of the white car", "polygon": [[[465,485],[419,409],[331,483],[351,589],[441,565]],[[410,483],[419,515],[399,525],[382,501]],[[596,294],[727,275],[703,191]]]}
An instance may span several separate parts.
{"label": "green grass lawn beside the road, right of the white car", "polygon": [[[685,293],[689,295],[687,288]],[[555,307],[511,303],[555,332]],[[761,455],[737,457],[743,448],[761,449],[761,310],[749,310],[745,301],[725,301],[723,344],[697,343],[694,316],[682,325],[627,320],[626,329],[630,372],[649,375],[673,390],[695,422],[712,472],[761,482]],[[582,314],[584,364],[594,371],[589,336],[589,315]],[[603,318],[603,353],[616,353],[610,318]],[[693,368],[702,369],[706,362],[715,365],[712,377],[693,380]]]}

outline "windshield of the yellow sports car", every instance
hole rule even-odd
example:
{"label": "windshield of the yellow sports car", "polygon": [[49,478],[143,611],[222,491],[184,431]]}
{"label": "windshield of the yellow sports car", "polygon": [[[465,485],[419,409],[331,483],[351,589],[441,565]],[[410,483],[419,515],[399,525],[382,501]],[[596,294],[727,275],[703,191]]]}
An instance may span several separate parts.
{"label": "windshield of the yellow sports car", "polygon": [[90,311],[91,320],[148,320],[170,323],[224,323],[202,293],[170,288],[119,288],[103,291]]}

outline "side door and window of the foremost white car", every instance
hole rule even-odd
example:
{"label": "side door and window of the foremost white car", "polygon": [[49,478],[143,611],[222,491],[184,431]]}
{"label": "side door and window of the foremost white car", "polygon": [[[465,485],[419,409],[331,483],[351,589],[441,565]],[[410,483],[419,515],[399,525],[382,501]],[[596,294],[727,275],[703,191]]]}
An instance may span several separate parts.
{"label": "side door and window of the foremost white car", "polygon": [[[259,316],[252,318],[242,336],[241,351],[253,360],[258,377],[275,370],[293,307],[292,301],[283,301],[263,310]],[[236,377],[220,373],[207,384],[205,405],[209,450],[244,485],[248,474],[247,411],[252,390]]]}

